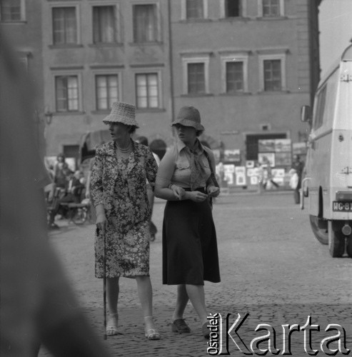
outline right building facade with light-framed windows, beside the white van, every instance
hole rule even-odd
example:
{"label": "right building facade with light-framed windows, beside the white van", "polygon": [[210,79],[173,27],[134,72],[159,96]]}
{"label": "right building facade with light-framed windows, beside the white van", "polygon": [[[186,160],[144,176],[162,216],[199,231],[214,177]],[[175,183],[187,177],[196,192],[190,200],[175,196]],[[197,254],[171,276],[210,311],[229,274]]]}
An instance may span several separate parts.
{"label": "right building facade with light-framed windows, beside the white van", "polygon": [[319,74],[312,3],[172,1],[174,106],[201,111],[212,149],[239,150],[243,163],[258,159],[259,139],[305,139],[300,110]]}

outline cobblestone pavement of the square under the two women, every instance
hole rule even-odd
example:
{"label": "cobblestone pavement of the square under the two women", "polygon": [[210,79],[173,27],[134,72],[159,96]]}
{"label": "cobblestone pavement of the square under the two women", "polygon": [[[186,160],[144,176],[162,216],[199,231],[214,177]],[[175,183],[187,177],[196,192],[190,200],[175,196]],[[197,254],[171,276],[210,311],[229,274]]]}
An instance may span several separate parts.
{"label": "cobblestone pavement of the square under the two women", "polygon": [[[104,341],[112,356],[208,356],[207,341],[201,336],[196,313],[190,305],[185,317],[191,333],[171,332],[175,287],[161,284],[163,211],[164,201],[157,200],[154,223],[159,233],[156,241],[151,243],[151,281],[154,316],[162,338],[146,341],[136,282],[121,278],[121,335],[109,336]],[[311,347],[319,351],[318,355],[325,356],[320,347],[323,338],[336,335],[336,331],[325,331],[329,323],[338,323],[345,328],[347,347],[352,348],[352,259],[329,256],[327,246],[313,238],[307,211],[301,211],[293,204],[292,193],[220,196],[214,205],[213,216],[222,281],[205,285],[209,313],[221,313],[223,319],[231,313],[229,326],[238,313],[241,318],[248,313],[238,330],[248,348],[253,338],[266,334],[266,331],[255,331],[258,323],[268,323],[276,331],[276,348],[282,351],[281,325],[297,323],[303,327],[308,316],[311,316],[312,324],[320,326],[320,331],[311,333]],[[103,283],[94,278],[94,226],[59,224],[61,229],[52,231],[49,240],[66,267],[91,326],[103,338]],[[225,322],[223,326],[225,331]],[[238,342],[234,333],[231,336]],[[293,356],[308,356],[303,348],[303,331],[294,332],[291,340]],[[225,353],[224,332],[223,346]],[[260,345],[261,348],[267,346],[267,343]],[[331,348],[336,346],[336,343],[331,344]],[[245,356],[231,338],[228,338],[228,352],[233,356]],[[42,348],[39,356],[50,354]]]}

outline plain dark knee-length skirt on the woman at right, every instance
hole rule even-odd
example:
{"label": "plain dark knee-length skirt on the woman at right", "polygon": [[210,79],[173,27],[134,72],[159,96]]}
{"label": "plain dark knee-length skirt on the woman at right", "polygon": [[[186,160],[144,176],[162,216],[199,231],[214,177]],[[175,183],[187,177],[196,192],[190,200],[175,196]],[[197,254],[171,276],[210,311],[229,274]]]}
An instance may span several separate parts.
{"label": "plain dark knee-length skirt on the woman at right", "polygon": [[208,201],[167,201],[163,222],[163,283],[218,283],[218,246]]}

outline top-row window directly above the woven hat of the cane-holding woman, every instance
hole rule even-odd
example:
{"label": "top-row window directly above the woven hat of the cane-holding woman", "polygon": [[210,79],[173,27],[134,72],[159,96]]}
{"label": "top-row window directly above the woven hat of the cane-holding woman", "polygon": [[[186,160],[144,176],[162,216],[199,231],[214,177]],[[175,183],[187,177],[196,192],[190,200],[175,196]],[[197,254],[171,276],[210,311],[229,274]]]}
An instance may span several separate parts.
{"label": "top-row window directly above the woven hat of the cane-holding woman", "polygon": [[93,42],[117,42],[116,6],[93,6]]}

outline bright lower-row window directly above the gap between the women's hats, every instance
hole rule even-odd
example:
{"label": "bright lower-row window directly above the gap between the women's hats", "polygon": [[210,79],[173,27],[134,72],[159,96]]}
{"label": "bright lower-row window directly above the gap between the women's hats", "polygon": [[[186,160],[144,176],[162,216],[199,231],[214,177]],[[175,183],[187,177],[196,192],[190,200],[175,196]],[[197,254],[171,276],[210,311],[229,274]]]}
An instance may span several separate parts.
{"label": "bright lower-row window directly above the gap between the women's hats", "polygon": [[136,74],[136,106],[138,109],[159,108],[157,73]]}

